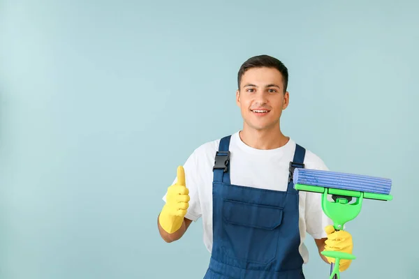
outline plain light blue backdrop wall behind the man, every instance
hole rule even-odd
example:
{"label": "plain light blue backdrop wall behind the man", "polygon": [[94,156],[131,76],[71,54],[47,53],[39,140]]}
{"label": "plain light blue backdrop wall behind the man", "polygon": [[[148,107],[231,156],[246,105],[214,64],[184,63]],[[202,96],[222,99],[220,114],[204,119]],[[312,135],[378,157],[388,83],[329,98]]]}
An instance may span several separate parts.
{"label": "plain light blue backdrop wall behind the man", "polygon": [[[0,278],[203,278],[201,222],[168,244],[156,217],[177,165],[242,128],[237,70],[256,54],[290,71],[286,135],[332,170],[393,180],[392,202],[348,224],[342,279],[417,278],[418,8],[3,0]],[[307,246],[307,278],[328,278]]]}

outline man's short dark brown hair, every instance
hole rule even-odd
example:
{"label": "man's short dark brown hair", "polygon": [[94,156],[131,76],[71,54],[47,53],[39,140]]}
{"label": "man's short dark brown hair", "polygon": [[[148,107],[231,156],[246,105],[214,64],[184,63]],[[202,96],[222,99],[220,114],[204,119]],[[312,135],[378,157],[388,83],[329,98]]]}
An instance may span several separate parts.
{"label": "man's short dark brown hair", "polygon": [[263,67],[275,68],[279,70],[279,73],[281,73],[282,79],[284,80],[284,92],[285,92],[288,86],[288,69],[286,68],[284,63],[282,63],[278,59],[269,55],[265,55],[265,54],[253,56],[247,59],[247,61],[245,61],[242,64],[242,66],[240,67],[239,73],[237,74],[238,88],[240,89],[240,82],[242,80],[242,76],[247,70],[251,68],[263,68]]}

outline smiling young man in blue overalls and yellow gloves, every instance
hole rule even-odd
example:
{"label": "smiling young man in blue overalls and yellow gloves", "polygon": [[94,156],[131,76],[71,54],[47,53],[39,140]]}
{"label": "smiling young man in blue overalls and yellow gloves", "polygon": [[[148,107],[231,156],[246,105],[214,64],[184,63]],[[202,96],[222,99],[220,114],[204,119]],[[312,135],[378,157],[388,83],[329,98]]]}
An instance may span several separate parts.
{"label": "smiling young man in blue overalls and yellow gloves", "polygon": [[[271,56],[254,56],[241,66],[237,82],[242,130],[199,146],[177,169],[163,197],[159,232],[165,241],[176,241],[203,218],[205,246],[212,253],[205,279],[304,278],[306,232],[318,252],[352,252],[351,235],[330,226],[319,194],[293,188],[293,167],[327,167],[281,132],[289,103],[286,66]],[[339,269],[350,264],[341,260]]]}

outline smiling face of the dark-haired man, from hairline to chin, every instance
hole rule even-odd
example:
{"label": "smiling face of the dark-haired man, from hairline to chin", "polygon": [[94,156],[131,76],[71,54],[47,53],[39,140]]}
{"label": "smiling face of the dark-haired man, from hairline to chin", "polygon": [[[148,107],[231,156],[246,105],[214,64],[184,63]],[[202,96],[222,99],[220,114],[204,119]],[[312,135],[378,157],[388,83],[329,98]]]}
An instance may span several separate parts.
{"label": "smiling face of the dark-haired man, from hairline to chin", "polygon": [[282,110],[288,106],[289,94],[276,68],[250,68],[240,82],[236,103],[244,119],[244,128],[268,130],[279,128]]}

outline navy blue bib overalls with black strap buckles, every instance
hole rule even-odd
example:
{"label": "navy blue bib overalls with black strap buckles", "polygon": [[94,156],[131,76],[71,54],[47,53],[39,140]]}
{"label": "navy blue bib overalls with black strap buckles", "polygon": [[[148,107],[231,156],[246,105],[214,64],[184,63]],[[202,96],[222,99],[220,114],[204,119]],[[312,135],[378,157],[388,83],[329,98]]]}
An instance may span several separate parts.
{"label": "navy blue bib overalls with black strap buckles", "polygon": [[305,149],[295,147],[286,192],[230,183],[230,135],[216,152],[212,183],[213,246],[204,279],[304,279],[298,250],[298,192],[295,167]]}

